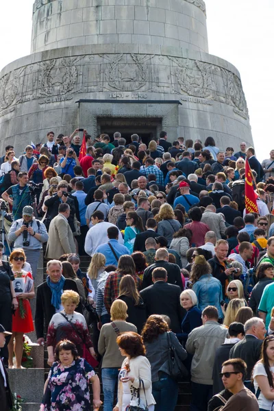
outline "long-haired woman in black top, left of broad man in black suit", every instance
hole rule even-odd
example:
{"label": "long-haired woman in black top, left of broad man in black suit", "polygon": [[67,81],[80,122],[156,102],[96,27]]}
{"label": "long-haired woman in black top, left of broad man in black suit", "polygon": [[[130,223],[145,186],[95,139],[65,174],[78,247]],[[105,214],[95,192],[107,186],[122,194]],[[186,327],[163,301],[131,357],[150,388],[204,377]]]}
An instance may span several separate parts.
{"label": "long-haired woman in black top, left of broad man in black suit", "polygon": [[147,316],[145,303],[142,301],[136,287],[136,282],[131,275],[124,275],[119,284],[119,296],[117,299],[127,304],[127,323],[136,325],[138,333],[142,331]]}

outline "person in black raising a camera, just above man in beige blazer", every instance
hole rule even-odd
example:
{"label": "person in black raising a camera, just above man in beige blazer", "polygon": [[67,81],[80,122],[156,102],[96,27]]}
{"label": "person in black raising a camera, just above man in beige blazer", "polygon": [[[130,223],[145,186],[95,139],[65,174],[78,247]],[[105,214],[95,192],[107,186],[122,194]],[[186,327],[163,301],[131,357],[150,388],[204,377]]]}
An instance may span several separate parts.
{"label": "person in black raising a camera, just above man in beige blazer", "polygon": [[60,182],[57,187],[57,192],[55,195],[49,197],[45,201],[45,206],[47,207],[47,219],[51,221],[55,216],[58,215],[58,208],[60,204],[67,203],[71,208],[71,214],[68,218],[69,226],[72,229],[72,232],[75,232],[74,218],[80,221],[79,216],[79,204],[76,197],[72,197],[68,192],[68,184],[66,182]]}

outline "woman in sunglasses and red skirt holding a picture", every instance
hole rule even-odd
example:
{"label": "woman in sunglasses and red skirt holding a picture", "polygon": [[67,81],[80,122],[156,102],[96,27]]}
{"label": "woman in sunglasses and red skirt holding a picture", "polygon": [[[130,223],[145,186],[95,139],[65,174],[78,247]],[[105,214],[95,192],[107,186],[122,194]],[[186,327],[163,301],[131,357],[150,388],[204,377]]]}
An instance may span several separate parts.
{"label": "woman in sunglasses and red skirt holding a picture", "polygon": [[[12,338],[8,344],[9,368],[13,368],[13,353],[15,353],[16,366],[21,369],[23,355],[23,334],[34,331],[34,321],[29,299],[34,298],[34,279],[32,274],[23,270],[26,256],[23,249],[15,249],[10,254],[10,264],[14,275],[14,292],[18,301],[18,309],[12,316]],[[15,340],[15,343],[14,343]]]}

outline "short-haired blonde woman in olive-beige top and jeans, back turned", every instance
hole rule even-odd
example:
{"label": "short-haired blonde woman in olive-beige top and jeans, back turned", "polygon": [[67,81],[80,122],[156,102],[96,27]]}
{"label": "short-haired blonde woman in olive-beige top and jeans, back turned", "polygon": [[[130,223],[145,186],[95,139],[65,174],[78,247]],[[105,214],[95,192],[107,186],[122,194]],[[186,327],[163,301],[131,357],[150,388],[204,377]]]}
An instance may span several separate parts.
{"label": "short-haired blonde woman in olive-beige top and jeans, back turned", "polygon": [[103,410],[112,411],[116,381],[119,369],[123,363],[123,357],[116,343],[119,332],[137,332],[135,325],[127,323],[127,304],[121,299],[112,303],[110,308],[112,323],[101,327],[98,351],[103,356],[102,382],[103,382]]}

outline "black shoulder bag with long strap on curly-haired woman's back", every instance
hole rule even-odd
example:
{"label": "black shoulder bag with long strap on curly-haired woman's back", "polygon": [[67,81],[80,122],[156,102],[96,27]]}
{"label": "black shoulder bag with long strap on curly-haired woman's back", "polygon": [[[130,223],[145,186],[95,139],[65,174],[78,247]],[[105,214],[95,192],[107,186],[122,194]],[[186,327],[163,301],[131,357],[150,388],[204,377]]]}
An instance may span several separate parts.
{"label": "black shoulder bag with long strap on curly-haired woman's back", "polygon": [[167,373],[173,379],[188,377],[186,366],[183,364],[181,358],[179,358],[176,348],[171,342],[171,333],[167,332],[166,337],[169,347],[168,359],[164,362],[159,371],[164,371],[164,373]]}

